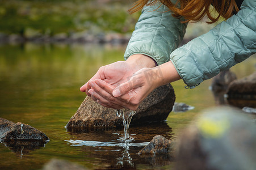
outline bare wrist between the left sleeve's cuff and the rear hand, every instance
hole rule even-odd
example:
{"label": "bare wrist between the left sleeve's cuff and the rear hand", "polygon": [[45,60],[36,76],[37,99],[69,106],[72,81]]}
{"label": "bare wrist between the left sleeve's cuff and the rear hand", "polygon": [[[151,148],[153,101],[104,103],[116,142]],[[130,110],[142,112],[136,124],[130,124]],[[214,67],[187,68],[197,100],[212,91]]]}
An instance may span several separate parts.
{"label": "bare wrist between the left sleeve's cuff and the rear hand", "polygon": [[152,68],[156,66],[154,59],[144,54],[134,54],[125,62],[131,65],[135,70],[140,70],[145,67]]}

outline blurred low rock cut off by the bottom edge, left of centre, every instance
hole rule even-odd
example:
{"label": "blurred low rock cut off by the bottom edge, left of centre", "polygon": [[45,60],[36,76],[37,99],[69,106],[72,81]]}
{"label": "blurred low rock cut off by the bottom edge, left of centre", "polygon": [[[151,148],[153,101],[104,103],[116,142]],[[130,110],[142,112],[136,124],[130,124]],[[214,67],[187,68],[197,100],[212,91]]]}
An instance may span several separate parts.
{"label": "blurred low rock cut off by the bottom edge, left of centre", "polygon": [[82,167],[81,165],[71,163],[66,160],[60,159],[51,159],[50,162],[44,165],[42,170],[85,170],[87,168]]}

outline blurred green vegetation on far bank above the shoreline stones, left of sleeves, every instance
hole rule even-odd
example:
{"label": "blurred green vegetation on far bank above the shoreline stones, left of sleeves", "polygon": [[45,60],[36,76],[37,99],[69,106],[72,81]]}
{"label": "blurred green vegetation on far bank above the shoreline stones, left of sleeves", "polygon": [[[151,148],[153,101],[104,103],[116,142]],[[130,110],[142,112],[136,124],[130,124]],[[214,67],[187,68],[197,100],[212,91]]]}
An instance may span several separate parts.
{"label": "blurred green vegetation on far bank above the shoreline stones, left of sleeves", "polygon": [[132,2],[120,0],[0,0],[0,4],[0,32],[24,37],[129,33],[140,15],[128,14]]}

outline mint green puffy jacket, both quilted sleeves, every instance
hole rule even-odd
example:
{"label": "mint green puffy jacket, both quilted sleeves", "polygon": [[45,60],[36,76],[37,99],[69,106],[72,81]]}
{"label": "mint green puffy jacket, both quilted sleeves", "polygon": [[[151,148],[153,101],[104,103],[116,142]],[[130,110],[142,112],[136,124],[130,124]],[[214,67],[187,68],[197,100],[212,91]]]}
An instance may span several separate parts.
{"label": "mint green puffy jacket, both quilted sleeves", "polygon": [[178,48],[187,24],[164,5],[145,6],[124,58],[146,54],[158,65],[171,61],[188,87],[229,69],[256,53],[256,0],[244,0],[241,10],[209,32]]}

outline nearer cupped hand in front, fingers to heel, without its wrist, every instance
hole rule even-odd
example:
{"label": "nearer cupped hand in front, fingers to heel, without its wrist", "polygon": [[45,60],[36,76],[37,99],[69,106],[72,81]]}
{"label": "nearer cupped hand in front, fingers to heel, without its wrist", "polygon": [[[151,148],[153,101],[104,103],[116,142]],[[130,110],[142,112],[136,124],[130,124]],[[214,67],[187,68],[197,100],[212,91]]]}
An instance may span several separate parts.
{"label": "nearer cupped hand in front, fingers to heel, without its wrist", "polygon": [[96,79],[93,87],[93,96],[97,102],[105,107],[115,105],[135,111],[142,100],[156,88],[156,82],[150,77],[153,69],[144,68],[132,75],[127,82],[116,88],[103,80]]}

